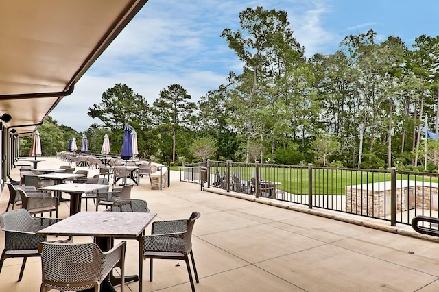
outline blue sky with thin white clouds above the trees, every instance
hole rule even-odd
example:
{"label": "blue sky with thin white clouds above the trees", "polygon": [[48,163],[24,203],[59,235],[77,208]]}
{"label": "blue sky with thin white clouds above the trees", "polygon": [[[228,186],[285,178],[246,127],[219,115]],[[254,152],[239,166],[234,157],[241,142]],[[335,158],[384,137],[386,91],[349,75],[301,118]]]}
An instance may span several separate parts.
{"label": "blue sky with thin white clouds above the trees", "polygon": [[117,83],[128,85],[150,106],[171,84],[180,84],[197,102],[226,84],[230,71],[241,72],[242,64],[220,34],[240,29],[239,12],[257,6],[287,12],[307,58],[334,53],[345,36],[369,29],[377,41],[398,36],[409,48],[417,36],[439,32],[436,0],[149,0],[51,117],[78,132],[102,124],[88,116],[88,108]]}

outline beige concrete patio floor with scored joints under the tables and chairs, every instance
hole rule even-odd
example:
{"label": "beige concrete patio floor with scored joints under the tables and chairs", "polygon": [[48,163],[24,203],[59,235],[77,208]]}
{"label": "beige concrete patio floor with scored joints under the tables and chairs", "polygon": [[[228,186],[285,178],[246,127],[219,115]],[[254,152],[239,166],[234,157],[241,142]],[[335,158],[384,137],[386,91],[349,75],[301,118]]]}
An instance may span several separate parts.
{"label": "beige concrete patio floor with scored joints under the tables and chairs", "polygon": [[[53,157],[41,159],[45,161],[38,168],[67,165]],[[97,172],[91,169],[89,176]],[[11,176],[18,179],[18,169],[12,169]],[[439,245],[426,240],[428,236],[402,235],[412,233],[410,226],[393,228],[388,221],[311,210],[321,217],[305,206],[285,206],[272,199],[253,202],[246,195],[236,195],[244,198],[239,199],[200,191],[198,184],[179,180],[178,172],[172,172],[171,187],[152,191],[149,179],[142,178],[132,197],[147,201],[157,213],[155,221],[189,218],[194,210],[201,213],[193,230],[197,291],[439,291]],[[8,197],[4,188],[2,212]],[[61,218],[69,215],[68,204],[60,204]],[[82,204],[85,210],[85,200]],[[88,200],[88,212],[93,210]],[[1,250],[4,241],[0,232]],[[92,239],[74,239],[82,241]],[[136,241],[128,241],[127,274],[137,273],[137,249]],[[144,291],[191,291],[184,262],[154,260],[153,282],[149,261],[143,263]],[[23,280],[17,282],[20,267],[21,258],[5,260],[0,291],[39,291],[40,258],[27,260]],[[138,291],[137,282],[127,287],[126,291]]]}

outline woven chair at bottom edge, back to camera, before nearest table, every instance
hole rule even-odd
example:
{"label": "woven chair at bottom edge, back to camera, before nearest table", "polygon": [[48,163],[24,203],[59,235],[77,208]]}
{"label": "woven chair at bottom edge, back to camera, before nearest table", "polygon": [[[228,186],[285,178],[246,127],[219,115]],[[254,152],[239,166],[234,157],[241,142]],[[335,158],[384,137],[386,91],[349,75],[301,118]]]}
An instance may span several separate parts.
{"label": "woven chair at bottom edge, back to camera, before nearest table", "polygon": [[102,252],[95,243],[41,243],[39,251],[43,281],[40,291],[80,291],[94,288],[94,291],[98,292],[113,267],[119,267],[120,291],[123,292],[125,250],[126,241],[122,241],[108,252]]}

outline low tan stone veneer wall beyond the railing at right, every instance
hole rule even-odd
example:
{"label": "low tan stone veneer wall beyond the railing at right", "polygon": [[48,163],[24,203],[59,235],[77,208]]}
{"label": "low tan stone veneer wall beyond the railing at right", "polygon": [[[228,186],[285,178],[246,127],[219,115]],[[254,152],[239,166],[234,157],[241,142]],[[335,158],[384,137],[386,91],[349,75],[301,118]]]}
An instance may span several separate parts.
{"label": "low tan stone veneer wall beyond the railing at right", "polygon": [[[438,188],[430,186],[407,187],[415,192],[416,208],[438,210],[438,206],[432,206],[431,197],[438,197]],[[407,210],[405,202],[405,190],[407,188],[396,189],[396,211]],[[370,191],[357,189],[356,187],[346,187],[346,212],[353,214],[366,215],[370,217],[385,217],[390,215],[391,191]]]}

